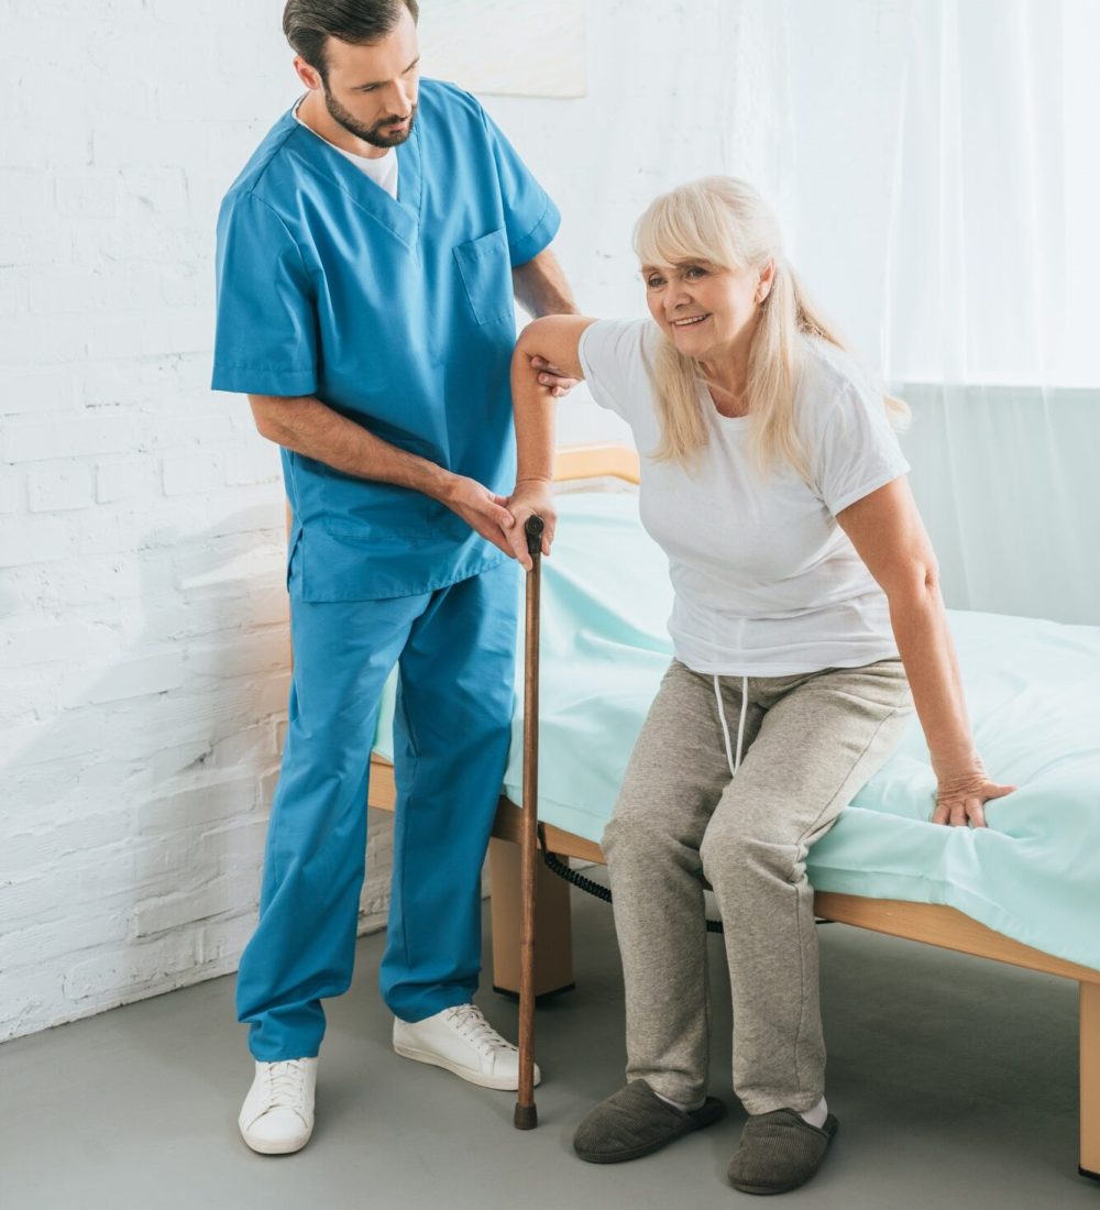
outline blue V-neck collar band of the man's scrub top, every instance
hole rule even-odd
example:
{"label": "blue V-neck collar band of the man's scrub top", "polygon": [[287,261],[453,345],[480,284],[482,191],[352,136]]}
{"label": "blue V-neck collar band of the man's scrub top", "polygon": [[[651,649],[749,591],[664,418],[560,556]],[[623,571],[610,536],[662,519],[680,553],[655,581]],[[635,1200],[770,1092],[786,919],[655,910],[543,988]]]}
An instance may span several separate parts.
{"label": "blue V-neck collar band of the man's scrub top", "polygon": [[[294,103],[295,108],[298,102]],[[415,249],[420,236],[420,215],[424,208],[424,163],[420,142],[420,115],[413,131],[397,152],[397,197],[391,197],[378,182],[345,159],[316,131],[299,122],[292,108],[286,121],[292,131],[287,145],[315,172],[328,178],[361,209],[399,240]]]}

